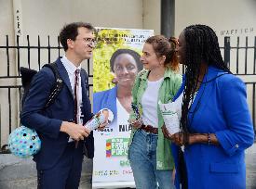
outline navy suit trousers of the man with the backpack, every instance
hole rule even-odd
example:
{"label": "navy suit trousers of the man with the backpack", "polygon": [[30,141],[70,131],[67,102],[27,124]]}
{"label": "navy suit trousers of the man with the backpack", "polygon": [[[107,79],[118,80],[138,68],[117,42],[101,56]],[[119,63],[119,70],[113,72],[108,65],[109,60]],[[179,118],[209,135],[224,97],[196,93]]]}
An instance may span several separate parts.
{"label": "navy suit trousers of the man with the backpack", "polygon": [[37,189],[77,189],[80,183],[83,143],[69,143],[60,160],[49,170],[37,170]]}

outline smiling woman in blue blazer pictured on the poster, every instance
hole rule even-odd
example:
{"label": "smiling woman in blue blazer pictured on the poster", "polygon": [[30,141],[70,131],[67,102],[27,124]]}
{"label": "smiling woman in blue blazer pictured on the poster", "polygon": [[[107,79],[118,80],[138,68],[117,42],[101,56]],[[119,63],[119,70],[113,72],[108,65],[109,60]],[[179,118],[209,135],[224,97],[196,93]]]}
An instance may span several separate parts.
{"label": "smiling woman in blue blazer pictured on the poster", "polygon": [[116,119],[116,99],[127,112],[130,111],[131,88],[137,73],[143,68],[140,55],[130,49],[118,49],[110,59],[111,70],[115,73],[116,86],[93,94],[93,112],[109,108]]}

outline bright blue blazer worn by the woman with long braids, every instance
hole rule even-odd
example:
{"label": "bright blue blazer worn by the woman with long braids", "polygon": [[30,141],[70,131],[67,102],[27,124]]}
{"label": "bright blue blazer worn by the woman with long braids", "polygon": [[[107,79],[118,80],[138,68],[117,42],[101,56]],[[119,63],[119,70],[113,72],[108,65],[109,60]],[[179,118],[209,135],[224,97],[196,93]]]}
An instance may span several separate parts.
{"label": "bright blue blazer worn by the woman with long braids", "polygon": [[[188,188],[246,188],[244,151],[254,141],[246,88],[233,74],[223,73],[209,67],[188,115],[190,132],[215,133],[220,143],[185,147]],[[175,99],[183,89],[184,82]],[[178,147],[171,147],[179,175]],[[178,176],[177,188],[179,179]]]}

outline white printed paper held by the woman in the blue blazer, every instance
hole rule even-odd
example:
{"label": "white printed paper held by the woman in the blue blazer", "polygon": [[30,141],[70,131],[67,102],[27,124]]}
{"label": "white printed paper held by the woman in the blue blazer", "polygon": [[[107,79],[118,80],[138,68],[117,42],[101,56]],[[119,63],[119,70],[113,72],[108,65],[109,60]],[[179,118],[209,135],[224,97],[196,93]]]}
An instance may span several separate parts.
{"label": "white printed paper held by the woman in the blue blazer", "polygon": [[173,102],[162,104],[158,102],[166,128],[170,134],[180,132],[180,120],[178,118],[176,105]]}

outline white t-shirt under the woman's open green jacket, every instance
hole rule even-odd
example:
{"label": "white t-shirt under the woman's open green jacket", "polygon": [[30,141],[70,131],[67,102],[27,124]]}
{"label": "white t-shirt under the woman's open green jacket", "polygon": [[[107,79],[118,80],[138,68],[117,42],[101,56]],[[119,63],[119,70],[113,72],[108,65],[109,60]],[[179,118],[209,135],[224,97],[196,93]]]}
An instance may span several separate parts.
{"label": "white t-shirt under the woman's open green jacket", "polygon": [[147,88],[141,97],[142,121],[145,125],[151,125],[155,128],[158,127],[158,93],[163,81],[164,78],[155,82],[147,81]]}

